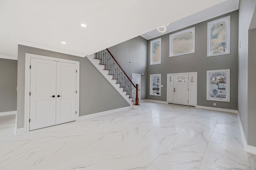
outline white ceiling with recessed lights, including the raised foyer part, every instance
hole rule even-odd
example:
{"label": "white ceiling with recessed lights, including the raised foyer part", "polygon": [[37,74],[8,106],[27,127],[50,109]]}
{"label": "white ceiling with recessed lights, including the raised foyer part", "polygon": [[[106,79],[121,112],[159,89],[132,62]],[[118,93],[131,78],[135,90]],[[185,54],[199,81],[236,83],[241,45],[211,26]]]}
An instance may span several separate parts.
{"label": "white ceiling with recessed lights, including the raised foyer part", "polygon": [[[156,36],[154,29],[166,23],[175,23],[168,25],[168,29],[180,29],[191,24],[192,21],[187,19],[179,23],[182,18],[194,16],[194,20],[205,20],[198,13],[203,10],[204,14],[208,14],[206,18],[236,10],[238,2],[239,0],[0,0],[0,57],[15,59],[17,44],[85,57],[142,34],[146,39],[152,38]],[[220,3],[229,3],[230,6],[225,5],[220,10]],[[205,10],[207,8],[211,12]],[[81,27],[81,23],[85,23],[87,27]],[[149,31],[151,32],[145,34]],[[62,41],[66,44],[62,44]]]}

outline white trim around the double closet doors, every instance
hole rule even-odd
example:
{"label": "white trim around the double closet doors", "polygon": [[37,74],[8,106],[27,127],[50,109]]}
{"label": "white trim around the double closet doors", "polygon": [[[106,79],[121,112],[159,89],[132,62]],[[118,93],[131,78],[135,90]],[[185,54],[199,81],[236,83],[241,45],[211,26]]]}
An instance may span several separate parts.
{"label": "white trim around the double closet doors", "polygon": [[[66,59],[59,59],[55,57],[47,57],[43,55],[35,55],[26,53],[25,55],[25,108],[24,108],[24,128],[25,132],[29,131],[29,117],[30,117],[30,98],[29,98],[29,92],[30,92],[30,59],[36,58],[36,59],[45,59],[45,60],[51,60],[51,61],[60,61],[65,63],[73,63],[76,64],[77,74],[76,74],[76,121],[79,120],[79,76],[80,76],[80,62],[79,61],[72,61],[72,60],[66,60]],[[17,122],[16,122],[17,125]]]}

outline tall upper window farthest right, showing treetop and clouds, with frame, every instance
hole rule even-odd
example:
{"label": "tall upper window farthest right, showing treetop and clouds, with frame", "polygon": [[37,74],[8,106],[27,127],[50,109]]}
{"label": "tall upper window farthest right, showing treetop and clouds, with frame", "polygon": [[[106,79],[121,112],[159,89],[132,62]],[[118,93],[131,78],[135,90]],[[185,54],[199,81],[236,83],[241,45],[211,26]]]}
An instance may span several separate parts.
{"label": "tall upper window farthest right, showing treetop and clouds, with frame", "polygon": [[230,16],[207,25],[207,57],[230,54]]}

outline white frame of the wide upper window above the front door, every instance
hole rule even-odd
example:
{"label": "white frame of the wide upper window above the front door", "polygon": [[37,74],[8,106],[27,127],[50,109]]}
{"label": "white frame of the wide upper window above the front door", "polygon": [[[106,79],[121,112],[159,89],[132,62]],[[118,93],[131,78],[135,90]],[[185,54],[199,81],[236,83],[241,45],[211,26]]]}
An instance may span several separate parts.
{"label": "white frame of the wide upper window above the front door", "polygon": [[[188,32],[192,32],[193,34],[193,39],[192,39],[192,51],[187,51],[187,52],[183,52],[183,53],[178,53],[178,54],[172,54],[173,52],[173,49],[172,49],[172,45],[173,45],[173,37],[177,36],[177,35],[182,35],[182,34],[185,34],[185,33],[188,33]],[[178,55],[185,55],[185,54],[190,54],[190,53],[195,53],[195,27],[192,27],[190,29],[186,29],[186,30],[183,30],[183,31],[180,31],[178,33],[174,33],[174,34],[171,34],[169,36],[169,41],[170,41],[170,48],[169,48],[169,57],[174,57],[174,56],[178,56]]]}

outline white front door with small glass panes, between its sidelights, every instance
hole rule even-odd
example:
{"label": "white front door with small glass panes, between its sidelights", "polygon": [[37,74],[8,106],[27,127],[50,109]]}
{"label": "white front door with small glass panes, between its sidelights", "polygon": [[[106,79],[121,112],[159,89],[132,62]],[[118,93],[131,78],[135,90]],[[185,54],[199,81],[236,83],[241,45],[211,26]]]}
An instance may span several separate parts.
{"label": "white front door with small glass panes, between its sidelights", "polygon": [[188,74],[174,74],[174,104],[188,106]]}

